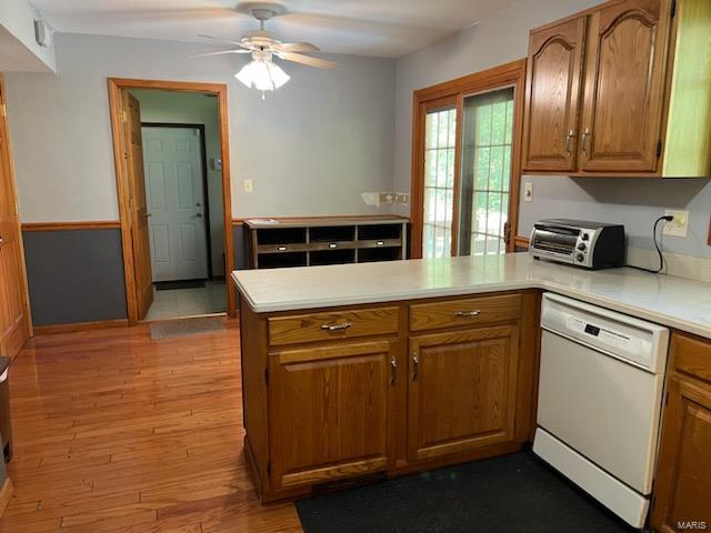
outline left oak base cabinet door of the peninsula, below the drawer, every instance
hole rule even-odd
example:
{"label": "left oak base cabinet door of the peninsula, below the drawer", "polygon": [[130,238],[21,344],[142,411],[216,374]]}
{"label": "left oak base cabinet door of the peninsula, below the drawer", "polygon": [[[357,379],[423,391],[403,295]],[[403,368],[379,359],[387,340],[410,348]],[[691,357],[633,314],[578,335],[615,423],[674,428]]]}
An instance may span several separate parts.
{"label": "left oak base cabinet door of the peninsula, below the drawer", "polygon": [[395,341],[333,343],[269,355],[276,489],[385,470]]}

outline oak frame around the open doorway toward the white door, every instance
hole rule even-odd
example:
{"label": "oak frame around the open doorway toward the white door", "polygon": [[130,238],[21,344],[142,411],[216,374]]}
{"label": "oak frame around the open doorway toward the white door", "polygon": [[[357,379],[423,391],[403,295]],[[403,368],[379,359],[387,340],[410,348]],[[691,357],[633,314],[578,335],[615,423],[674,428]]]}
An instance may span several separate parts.
{"label": "oak frame around the open doorway toward the white door", "polygon": [[228,128],[227,84],[192,81],[141,80],[109,78],[109,112],[113,133],[113,162],[121,222],[121,250],[123,252],[123,276],[126,282],[126,303],[129,324],[138,323],[138,301],[136,294],[136,273],[133,247],[131,245],[131,219],[129,210],[129,179],[124,164],[127,152],[121,121],[121,94],[129,89],[149,89],[171,92],[197,92],[212,94],[218,99],[218,120],[220,130],[220,155],[222,158],[222,219],[224,224],[224,284],[227,290],[227,313],[234,316],[236,292],[230,283],[229,273],[234,269],[234,243],[232,241],[232,195],[230,189],[230,140]]}

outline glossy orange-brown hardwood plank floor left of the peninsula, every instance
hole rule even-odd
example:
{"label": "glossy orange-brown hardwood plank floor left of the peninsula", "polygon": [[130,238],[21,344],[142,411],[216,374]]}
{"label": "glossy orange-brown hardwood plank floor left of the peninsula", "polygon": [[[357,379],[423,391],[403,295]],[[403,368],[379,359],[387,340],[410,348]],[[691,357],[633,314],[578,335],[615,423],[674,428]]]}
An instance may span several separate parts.
{"label": "glossy orange-brown hardwood plank floor left of the peninsula", "polygon": [[0,532],[301,531],[261,507],[242,451],[239,331],[31,340],[10,370],[14,495]]}

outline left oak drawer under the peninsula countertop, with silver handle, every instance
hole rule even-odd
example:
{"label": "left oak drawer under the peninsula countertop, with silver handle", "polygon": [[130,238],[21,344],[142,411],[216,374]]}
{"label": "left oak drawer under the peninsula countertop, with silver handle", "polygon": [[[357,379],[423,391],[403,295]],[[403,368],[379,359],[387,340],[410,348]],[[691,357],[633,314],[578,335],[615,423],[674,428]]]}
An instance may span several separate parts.
{"label": "left oak drawer under the peninsula countertop, with silver handle", "polygon": [[373,308],[269,319],[269,344],[353,339],[397,333],[398,308]]}

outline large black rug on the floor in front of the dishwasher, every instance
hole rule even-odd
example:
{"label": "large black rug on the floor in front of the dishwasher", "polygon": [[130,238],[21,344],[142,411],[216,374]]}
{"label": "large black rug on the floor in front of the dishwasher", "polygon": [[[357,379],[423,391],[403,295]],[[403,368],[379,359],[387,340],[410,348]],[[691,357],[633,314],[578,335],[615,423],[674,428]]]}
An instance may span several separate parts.
{"label": "large black rug on the floor in front of the dishwasher", "polygon": [[297,510],[306,533],[639,531],[532,452],[303,497]]}

